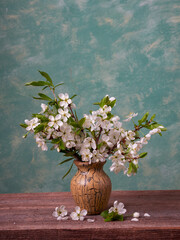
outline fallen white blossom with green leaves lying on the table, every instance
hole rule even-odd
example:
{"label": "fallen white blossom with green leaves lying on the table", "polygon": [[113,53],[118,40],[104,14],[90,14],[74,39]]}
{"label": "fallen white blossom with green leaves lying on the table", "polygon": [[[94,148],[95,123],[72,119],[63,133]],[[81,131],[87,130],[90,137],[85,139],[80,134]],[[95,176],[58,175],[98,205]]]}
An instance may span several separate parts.
{"label": "fallen white blossom with green leaves lying on the table", "polygon": [[101,216],[104,218],[105,222],[111,221],[123,221],[123,214],[126,213],[126,209],[124,208],[124,204],[122,202],[118,203],[116,200],[114,202],[114,206],[109,210],[105,210],[101,213]]}

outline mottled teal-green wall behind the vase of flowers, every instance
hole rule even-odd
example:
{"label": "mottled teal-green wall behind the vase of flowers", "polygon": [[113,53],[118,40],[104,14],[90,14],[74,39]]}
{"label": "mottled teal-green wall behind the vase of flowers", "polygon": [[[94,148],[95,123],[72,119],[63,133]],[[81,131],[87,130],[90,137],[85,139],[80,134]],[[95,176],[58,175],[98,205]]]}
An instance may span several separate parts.
{"label": "mottled teal-green wall behind the vase of flowers", "polygon": [[145,147],[136,176],[106,164],[114,190],[180,187],[179,0],[1,0],[0,46],[1,193],[69,191],[76,171],[62,181],[63,156],[22,139],[19,123],[40,111],[37,89],[24,86],[42,79],[38,69],[78,94],[80,117],[109,94],[121,119],[149,111],[168,128]]}

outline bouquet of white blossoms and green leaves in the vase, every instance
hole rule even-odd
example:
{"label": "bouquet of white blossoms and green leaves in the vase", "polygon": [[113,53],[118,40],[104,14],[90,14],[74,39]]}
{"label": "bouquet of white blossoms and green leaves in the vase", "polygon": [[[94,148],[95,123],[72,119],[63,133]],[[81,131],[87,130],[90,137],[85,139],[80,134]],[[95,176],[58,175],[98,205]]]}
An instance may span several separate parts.
{"label": "bouquet of white blossoms and green leaves in the vase", "polygon": [[[32,132],[38,147],[43,151],[47,151],[48,144],[51,144],[51,150],[56,149],[64,153],[64,156],[70,156],[60,164],[73,159],[91,164],[104,162],[109,158],[112,161],[110,171],[123,171],[127,176],[135,174],[139,159],[147,155],[146,152],[139,151],[152,135],[161,135],[161,132],[166,130],[154,121],[155,114],[148,120],[147,112],[136,124],[133,118],[138,114],[130,113],[124,121],[132,120],[134,128],[126,130],[122,127],[120,118],[111,113],[116,99],[106,95],[100,102],[95,103],[99,106],[98,110],[84,114],[79,120],[72,100],[76,95],[69,97],[67,93],[60,93],[56,96],[55,89],[61,84],[54,86],[47,73],[40,73],[46,81],[30,82],[26,85],[43,86],[43,89],[49,87],[54,98],[42,93],[39,93],[39,97],[34,97],[48,103],[42,103],[42,111],[33,114],[31,120],[26,119],[25,124],[21,124],[27,130],[24,137]],[[149,132],[140,136],[142,128]]]}

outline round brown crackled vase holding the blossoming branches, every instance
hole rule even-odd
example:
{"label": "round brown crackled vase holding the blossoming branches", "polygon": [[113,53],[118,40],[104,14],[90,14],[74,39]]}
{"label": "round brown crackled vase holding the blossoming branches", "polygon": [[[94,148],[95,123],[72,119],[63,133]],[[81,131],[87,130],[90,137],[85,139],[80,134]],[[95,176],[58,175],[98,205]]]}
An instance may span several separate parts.
{"label": "round brown crackled vase holding the blossoming branches", "polygon": [[111,180],[103,170],[105,162],[74,163],[78,171],[71,180],[71,193],[76,205],[86,209],[88,215],[100,214],[107,209],[111,194]]}

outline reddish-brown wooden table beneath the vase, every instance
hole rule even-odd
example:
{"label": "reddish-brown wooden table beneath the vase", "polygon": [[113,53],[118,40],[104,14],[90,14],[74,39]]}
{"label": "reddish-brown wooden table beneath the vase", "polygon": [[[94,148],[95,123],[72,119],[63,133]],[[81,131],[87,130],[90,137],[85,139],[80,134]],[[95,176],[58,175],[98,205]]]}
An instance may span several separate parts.
{"label": "reddish-brown wooden table beneath the vase", "polygon": [[[115,200],[127,209],[123,222],[104,222],[100,215],[57,221],[56,206],[64,204],[69,212],[75,207],[69,192],[0,194],[0,239],[180,239],[180,190],[113,191],[109,207]],[[135,211],[139,222],[127,216]],[[151,217],[145,218],[146,212]]]}

